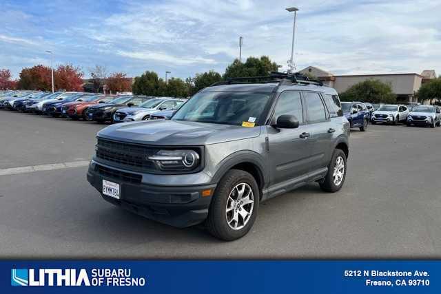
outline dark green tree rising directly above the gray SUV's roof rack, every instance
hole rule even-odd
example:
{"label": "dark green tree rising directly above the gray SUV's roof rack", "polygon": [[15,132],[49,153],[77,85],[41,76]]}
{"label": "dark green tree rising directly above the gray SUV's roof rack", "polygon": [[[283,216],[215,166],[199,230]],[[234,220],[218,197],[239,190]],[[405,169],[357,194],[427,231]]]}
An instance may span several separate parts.
{"label": "dark green tree rising directly above the gray SUV's roof rack", "polygon": [[271,62],[268,56],[248,57],[245,63],[235,59],[225,70],[224,78],[236,78],[239,76],[268,76],[271,72],[277,72],[278,65]]}

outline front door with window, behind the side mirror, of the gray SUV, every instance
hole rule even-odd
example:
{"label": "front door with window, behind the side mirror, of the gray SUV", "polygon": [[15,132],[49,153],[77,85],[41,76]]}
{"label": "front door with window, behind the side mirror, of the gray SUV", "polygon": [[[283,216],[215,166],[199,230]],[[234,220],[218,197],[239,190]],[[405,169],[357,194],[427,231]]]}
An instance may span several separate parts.
{"label": "front door with window, behind the side mirror, of the gray SUV", "polygon": [[271,121],[276,121],[278,116],[283,114],[296,116],[300,125],[296,129],[277,129],[267,125],[271,185],[306,175],[309,171],[313,145],[310,135],[303,136],[308,131],[303,122],[304,113],[299,91],[286,91],[280,94]]}

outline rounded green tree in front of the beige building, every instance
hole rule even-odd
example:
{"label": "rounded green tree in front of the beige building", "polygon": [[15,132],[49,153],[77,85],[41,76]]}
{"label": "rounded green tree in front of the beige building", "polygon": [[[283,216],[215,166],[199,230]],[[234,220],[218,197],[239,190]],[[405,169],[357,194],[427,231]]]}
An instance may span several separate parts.
{"label": "rounded green tree in front of the beige building", "polygon": [[378,80],[356,83],[339,96],[341,101],[396,103],[396,95],[393,94],[391,85]]}

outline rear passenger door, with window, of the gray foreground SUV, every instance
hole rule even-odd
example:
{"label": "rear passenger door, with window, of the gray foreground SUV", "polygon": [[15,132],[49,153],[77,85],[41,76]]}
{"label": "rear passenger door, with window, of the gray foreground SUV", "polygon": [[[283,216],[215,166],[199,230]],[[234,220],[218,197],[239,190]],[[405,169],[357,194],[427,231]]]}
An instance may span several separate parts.
{"label": "rear passenger door, with window, of the gray foreground SUV", "polygon": [[[331,127],[329,112],[322,96],[318,92],[302,92],[303,105],[306,109],[306,125],[311,134],[311,157],[309,171],[314,172],[329,163],[331,139],[335,129]],[[334,131],[334,132],[333,132]]]}

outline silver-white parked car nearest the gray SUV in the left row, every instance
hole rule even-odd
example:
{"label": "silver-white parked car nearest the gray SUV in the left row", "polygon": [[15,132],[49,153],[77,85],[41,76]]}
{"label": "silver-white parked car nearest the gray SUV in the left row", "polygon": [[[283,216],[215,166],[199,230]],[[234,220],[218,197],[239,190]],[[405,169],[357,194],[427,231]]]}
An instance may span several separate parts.
{"label": "silver-white parked car nearest the gray SUV in the left row", "polygon": [[178,98],[153,98],[145,101],[139,107],[126,107],[115,112],[113,121],[115,123],[147,120],[150,114],[158,110],[174,110],[178,109],[185,103],[185,99]]}

